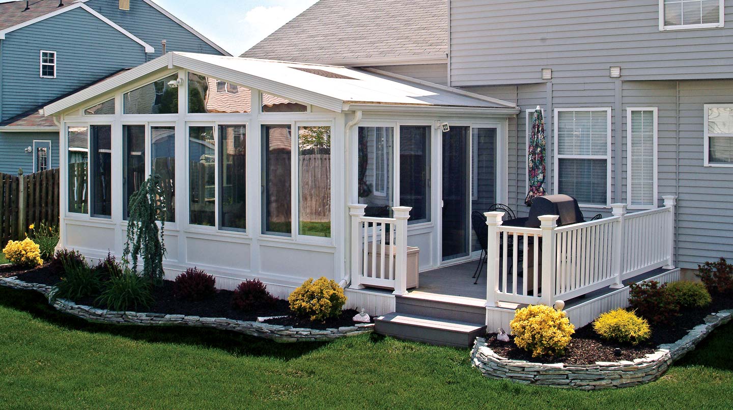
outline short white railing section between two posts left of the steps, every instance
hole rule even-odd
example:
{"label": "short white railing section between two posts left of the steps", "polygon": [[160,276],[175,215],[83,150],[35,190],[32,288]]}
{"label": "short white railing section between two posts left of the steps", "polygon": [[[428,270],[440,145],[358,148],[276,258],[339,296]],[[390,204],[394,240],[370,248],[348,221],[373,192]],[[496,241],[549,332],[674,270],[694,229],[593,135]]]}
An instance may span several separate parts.
{"label": "short white railing section between two posts left of the steps", "polygon": [[349,205],[351,216],[351,288],[364,286],[408,293],[408,207],[394,207],[394,218],[364,216],[367,205]]}

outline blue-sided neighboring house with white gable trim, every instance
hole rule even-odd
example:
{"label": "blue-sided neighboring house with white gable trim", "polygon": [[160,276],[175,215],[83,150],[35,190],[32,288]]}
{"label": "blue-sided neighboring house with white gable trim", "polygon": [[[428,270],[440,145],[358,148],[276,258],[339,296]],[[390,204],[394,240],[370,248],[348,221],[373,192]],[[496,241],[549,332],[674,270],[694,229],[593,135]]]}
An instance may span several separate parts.
{"label": "blue-sided neighboring house with white gable trim", "polygon": [[228,55],[151,0],[1,3],[0,172],[58,166],[59,127],[38,110],[163,48]]}

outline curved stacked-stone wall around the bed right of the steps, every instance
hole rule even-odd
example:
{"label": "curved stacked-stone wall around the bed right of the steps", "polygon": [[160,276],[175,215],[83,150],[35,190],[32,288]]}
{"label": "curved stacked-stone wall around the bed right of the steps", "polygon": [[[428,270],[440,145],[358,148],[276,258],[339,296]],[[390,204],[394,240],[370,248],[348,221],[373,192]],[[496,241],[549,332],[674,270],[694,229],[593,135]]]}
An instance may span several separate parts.
{"label": "curved stacked-stone wall around the bed right of the steps", "polygon": [[471,363],[486,377],[508,378],[523,384],[584,390],[631,387],[660,378],[674,361],[693,350],[712,329],[728,323],[732,317],[733,310],[713,313],[705,318],[705,323],[690,330],[687,336],[676,343],[660,345],[655,353],[633,362],[622,360],[596,362],[594,365],[565,365],[509,360],[498,356],[486,345],[485,339],[478,337],[471,351]]}

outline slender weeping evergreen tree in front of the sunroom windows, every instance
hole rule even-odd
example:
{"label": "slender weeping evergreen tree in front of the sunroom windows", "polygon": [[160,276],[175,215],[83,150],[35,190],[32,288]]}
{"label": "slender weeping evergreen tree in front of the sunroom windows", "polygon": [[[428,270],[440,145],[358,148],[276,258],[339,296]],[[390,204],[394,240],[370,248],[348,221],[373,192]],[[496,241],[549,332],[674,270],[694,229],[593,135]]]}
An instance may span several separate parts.
{"label": "slender weeping evergreen tree in front of the sunroom windows", "polygon": [[[128,209],[128,240],[125,244],[124,260],[132,262],[132,270],[137,274],[138,260],[143,263],[142,276],[155,285],[163,284],[163,257],[166,246],[163,242],[163,227],[166,209],[163,204],[163,186],[159,175],[150,175],[139,190],[130,196]],[[161,222],[161,227],[158,224]]]}

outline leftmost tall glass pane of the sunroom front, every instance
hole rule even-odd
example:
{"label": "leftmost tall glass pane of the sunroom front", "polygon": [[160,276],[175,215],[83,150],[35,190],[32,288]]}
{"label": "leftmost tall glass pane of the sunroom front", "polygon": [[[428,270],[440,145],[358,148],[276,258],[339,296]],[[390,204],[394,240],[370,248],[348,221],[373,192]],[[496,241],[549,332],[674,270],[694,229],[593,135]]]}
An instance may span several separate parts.
{"label": "leftmost tall glass pane of the sunroom front", "polygon": [[68,128],[69,160],[69,212],[89,213],[86,195],[87,172],[89,165],[89,128]]}

